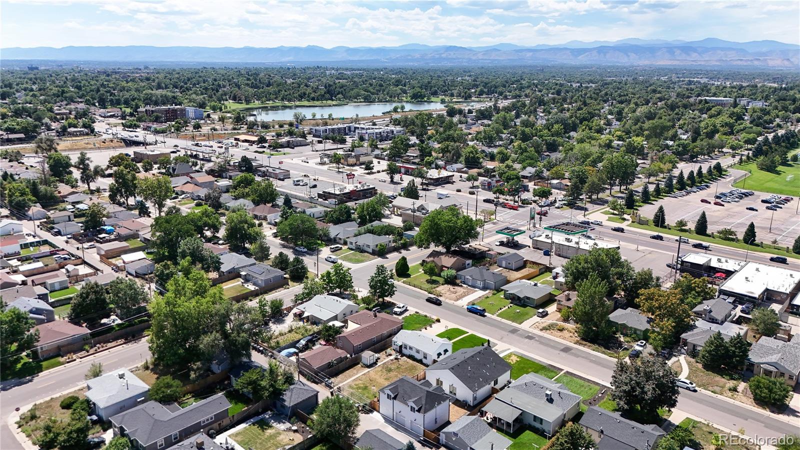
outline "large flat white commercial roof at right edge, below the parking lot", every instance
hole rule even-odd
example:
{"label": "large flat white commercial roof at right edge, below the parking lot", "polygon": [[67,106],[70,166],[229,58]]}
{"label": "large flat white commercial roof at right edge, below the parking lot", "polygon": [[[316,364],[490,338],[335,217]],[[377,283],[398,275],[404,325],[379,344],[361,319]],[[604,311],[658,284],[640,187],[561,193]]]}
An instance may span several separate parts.
{"label": "large flat white commercial roof at right edge, below the parking lot", "polygon": [[800,283],[800,272],[798,271],[749,262],[745,263],[734,275],[730,275],[730,278],[722,283],[720,288],[737,294],[758,297],[767,289],[788,294],[798,283]]}

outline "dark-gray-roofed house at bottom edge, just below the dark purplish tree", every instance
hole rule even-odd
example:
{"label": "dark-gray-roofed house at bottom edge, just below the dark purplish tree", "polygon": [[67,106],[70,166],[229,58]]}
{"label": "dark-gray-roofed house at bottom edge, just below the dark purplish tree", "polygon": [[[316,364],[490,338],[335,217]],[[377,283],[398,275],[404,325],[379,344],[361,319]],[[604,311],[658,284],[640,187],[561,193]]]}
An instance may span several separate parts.
{"label": "dark-gray-roofed house at bottom edge, just below the dark purplish tree", "polygon": [[656,425],[638,424],[596,406],[586,410],[579,424],[598,443],[598,450],[651,450],[666,434]]}

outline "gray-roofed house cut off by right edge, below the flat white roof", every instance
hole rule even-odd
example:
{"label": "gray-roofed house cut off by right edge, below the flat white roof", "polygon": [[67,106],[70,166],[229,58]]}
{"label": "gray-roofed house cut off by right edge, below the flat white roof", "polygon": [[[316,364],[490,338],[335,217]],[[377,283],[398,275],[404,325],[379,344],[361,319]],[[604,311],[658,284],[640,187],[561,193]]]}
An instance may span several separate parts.
{"label": "gray-roofed house cut off by right edge, below the flat white roof", "polygon": [[800,379],[800,338],[794,335],[789,342],[762,336],[750,347],[745,370],[754,375],[769,376],[795,386]]}

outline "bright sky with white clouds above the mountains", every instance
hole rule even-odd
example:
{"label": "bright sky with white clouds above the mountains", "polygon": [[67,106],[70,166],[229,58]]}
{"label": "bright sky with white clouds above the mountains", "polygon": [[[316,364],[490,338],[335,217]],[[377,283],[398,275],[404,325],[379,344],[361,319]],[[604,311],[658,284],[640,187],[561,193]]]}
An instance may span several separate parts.
{"label": "bright sky with white clouds above the mountains", "polygon": [[11,46],[484,46],[622,38],[800,44],[800,2],[4,0]]}

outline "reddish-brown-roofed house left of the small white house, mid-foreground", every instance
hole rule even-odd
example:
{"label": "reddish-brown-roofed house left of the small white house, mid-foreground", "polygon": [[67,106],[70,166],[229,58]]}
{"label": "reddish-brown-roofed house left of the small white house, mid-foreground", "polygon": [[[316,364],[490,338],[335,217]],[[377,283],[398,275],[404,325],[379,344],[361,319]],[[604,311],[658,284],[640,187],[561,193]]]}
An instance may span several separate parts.
{"label": "reddish-brown-roofed house left of the small white house, mid-foreground", "polygon": [[359,311],[348,318],[359,325],[336,336],[336,347],[353,356],[389,339],[402,329],[402,320],[383,312]]}

